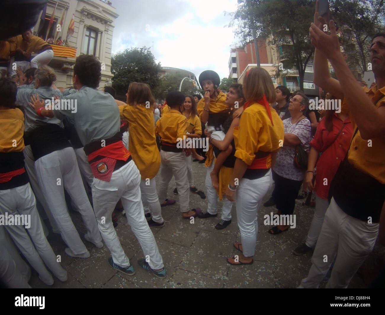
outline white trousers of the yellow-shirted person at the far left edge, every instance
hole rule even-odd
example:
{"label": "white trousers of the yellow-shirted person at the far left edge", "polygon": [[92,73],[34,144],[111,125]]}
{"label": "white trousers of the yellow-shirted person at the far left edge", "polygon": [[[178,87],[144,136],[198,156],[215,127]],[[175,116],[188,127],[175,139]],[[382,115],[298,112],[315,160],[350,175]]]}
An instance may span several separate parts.
{"label": "white trousers of the yellow-shirted person at the far left edge", "polygon": [[57,257],[44,235],[42,223],[37,214],[35,196],[29,183],[17,188],[0,190],[0,212],[2,215],[7,212],[8,216],[10,214],[28,215],[28,220],[30,220],[28,229],[23,225],[5,225],[5,228],[44,282],[52,280],[45,265],[56,277],[65,278],[67,276],[67,272],[57,262]]}

